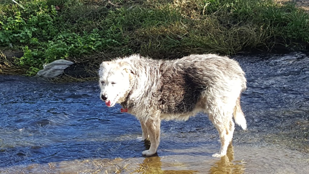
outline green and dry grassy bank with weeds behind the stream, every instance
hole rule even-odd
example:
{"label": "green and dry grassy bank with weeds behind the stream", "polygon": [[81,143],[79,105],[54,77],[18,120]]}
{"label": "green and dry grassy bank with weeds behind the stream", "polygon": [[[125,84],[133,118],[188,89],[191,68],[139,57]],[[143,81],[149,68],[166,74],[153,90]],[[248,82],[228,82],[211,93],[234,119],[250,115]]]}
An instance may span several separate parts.
{"label": "green and dry grassy bank with weeds behind the stream", "polygon": [[2,74],[32,76],[57,59],[86,62],[94,72],[100,61],[132,53],[176,59],[309,44],[309,15],[273,0],[18,2],[23,8],[0,0],[0,48],[24,52],[9,64],[2,56]]}

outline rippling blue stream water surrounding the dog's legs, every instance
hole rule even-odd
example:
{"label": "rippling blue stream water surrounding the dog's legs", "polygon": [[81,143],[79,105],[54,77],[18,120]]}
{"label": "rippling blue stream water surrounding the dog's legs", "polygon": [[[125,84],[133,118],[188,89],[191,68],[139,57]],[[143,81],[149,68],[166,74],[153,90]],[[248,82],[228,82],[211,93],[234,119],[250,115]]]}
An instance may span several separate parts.
{"label": "rippling blue stream water surrounding the dog's legs", "polygon": [[97,82],[53,84],[0,76],[0,173],[308,173],[309,56],[238,56],[248,89],[224,158],[207,115],[161,125],[158,155],[120,106],[99,100]]}

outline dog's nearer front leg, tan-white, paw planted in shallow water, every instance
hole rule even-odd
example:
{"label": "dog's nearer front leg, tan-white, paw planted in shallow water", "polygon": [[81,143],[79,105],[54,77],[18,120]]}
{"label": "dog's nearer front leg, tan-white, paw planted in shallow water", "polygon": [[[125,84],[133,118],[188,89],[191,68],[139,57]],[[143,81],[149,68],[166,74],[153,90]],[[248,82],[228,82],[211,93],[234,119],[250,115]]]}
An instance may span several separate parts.
{"label": "dog's nearer front leg, tan-white, paw planted in shallow water", "polygon": [[149,134],[150,148],[142,152],[143,155],[150,156],[157,152],[160,143],[160,119],[148,119],[145,122]]}

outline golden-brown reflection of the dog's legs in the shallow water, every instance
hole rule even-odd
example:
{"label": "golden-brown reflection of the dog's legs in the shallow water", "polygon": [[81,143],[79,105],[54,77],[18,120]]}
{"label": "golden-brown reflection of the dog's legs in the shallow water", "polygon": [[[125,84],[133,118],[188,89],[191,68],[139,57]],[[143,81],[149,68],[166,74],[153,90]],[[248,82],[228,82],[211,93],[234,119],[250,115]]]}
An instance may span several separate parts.
{"label": "golden-brown reflection of the dog's legs in the shallow water", "polygon": [[[227,154],[218,161],[216,161],[209,169],[209,171],[197,170],[162,170],[161,158],[154,154],[151,157],[146,157],[140,167],[133,173],[139,174],[243,174],[244,166],[241,162],[233,163],[234,160],[234,150],[233,146],[230,144],[227,149]],[[201,162],[201,166],[203,162]],[[207,165],[207,164],[206,164]],[[205,168],[206,169],[206,168]]]}

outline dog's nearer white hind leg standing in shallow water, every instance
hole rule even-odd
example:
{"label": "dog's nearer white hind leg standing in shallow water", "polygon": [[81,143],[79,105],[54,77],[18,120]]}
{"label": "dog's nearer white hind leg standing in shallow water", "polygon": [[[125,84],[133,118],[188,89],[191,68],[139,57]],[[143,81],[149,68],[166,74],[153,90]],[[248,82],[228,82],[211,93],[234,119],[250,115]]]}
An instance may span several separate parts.
{"label": "dog's nearer white hind leg standing in shallow water", "polygon": [[231,112],[223,112],[209,115],[210,120],[219,132],[221,148],[218,154],[213,154],[213,157],[222,157],[226,155],[227,147],[232,141],[234,132],[234,122]]}

